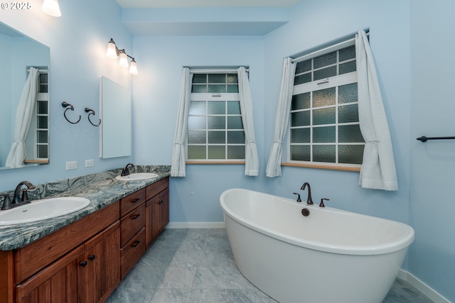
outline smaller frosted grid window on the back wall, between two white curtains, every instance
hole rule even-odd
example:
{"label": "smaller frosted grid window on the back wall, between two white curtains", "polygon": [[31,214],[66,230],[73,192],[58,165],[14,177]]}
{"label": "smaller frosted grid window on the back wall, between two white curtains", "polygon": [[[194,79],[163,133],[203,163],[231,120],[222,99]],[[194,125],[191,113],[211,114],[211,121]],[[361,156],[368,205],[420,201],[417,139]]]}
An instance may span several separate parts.
{"label": "smaller frosted grid window on the back wall, between two white curtains", "polygon": [[187,160],[245,161],[237,74],[193,75]]}

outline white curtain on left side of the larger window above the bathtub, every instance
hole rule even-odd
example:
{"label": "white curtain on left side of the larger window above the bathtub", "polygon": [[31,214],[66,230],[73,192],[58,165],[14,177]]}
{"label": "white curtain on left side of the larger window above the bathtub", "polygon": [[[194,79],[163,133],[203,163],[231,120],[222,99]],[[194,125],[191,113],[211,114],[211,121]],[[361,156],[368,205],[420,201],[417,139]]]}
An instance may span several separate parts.
{"label": "white curtain on left side of the larger window above the bathtub", "polygon": [[279,92],[277,114],[275,116],[274,138],[272,148],[270,148],[269,162],[267,162],[267,177],[278,177],[282,175],[282,145],[289,123],[289,110],[291,109],[295,72],[296,65],[292,63],[292,58],[284,58],[282,86]]}

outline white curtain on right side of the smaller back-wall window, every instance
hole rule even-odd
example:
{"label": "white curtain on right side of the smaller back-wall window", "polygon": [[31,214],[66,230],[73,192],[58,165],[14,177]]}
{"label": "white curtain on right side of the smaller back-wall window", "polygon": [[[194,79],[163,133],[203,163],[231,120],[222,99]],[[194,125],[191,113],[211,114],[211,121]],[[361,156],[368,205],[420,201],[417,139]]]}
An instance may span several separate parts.
{"label": "white curtain on right side of the smaller back-wall window", "polygon": [[250,81],[245,67],[237,68],[239,81],[240,113],[242,113],[243,129],[245,131],[245,175],[257,176],[259,173],[259,158],[253,122],[253,103]]}

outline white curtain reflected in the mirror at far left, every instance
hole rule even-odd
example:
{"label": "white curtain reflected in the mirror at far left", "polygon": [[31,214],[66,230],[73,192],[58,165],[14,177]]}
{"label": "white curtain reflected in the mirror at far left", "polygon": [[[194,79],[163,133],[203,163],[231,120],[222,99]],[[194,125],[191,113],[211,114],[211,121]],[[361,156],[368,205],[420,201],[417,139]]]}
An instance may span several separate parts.
{"label": "white curtain reflected in the mirror at far left", "polygon": [[23,166],[26,159],[26,137],[36,103],[38,69],[30,67],[26,84],[23,86],[21,99],[17,106],[16,122],[14,123],[14,141],[6,158],[6,167]]}

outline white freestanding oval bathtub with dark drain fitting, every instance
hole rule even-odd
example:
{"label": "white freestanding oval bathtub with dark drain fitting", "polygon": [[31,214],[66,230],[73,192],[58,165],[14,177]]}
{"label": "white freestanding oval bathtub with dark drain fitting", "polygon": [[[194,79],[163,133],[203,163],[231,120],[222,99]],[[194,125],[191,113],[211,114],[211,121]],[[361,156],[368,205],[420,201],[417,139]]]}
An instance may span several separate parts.
{"label": "white freestanding oval bathtub with dark drain fitting", "polygon": [[382,302],[414,240],[406,224],[247,189],[220,202],[240,272],[281,303]]}

